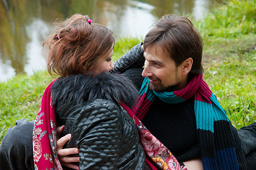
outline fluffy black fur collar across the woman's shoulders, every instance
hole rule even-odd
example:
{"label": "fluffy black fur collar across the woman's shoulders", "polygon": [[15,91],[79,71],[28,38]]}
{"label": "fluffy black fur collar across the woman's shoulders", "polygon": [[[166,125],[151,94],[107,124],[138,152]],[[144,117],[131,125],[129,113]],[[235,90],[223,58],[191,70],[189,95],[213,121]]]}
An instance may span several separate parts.
{"label": "fluffy black fur collar across the woman's shoulders", "polygon": [[137,99],[137,88],[131,80],[118,74],[70,75],[58,78],[52,85],[53,105],[81,104],[95,99],[107,99],[119,103],[123,101],[132,107]]}

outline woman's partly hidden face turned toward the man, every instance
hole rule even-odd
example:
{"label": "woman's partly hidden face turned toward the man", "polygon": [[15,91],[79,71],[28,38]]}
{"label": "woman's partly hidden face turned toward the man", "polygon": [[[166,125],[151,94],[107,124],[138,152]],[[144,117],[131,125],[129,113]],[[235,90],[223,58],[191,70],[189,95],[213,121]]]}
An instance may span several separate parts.
{"label": "woman's partly hidden face turned toward the man", "polygon": [[105,55],[98,59],[95,67],[91,68],[89,72],[94,73],[94,75],[98,75],[100,73],[103,73],[104,71],[108,73],[108,71],[112,70],[114,68],[114,65],[112,63],[112,54],[113,49],[111,48]]}

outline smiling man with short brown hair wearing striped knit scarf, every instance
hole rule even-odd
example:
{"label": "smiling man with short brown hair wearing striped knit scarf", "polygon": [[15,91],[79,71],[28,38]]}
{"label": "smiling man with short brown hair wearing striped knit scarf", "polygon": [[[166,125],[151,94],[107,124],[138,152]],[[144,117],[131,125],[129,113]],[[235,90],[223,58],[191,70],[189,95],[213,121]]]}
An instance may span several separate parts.
{"label": "smiling man with short brown hair wearing striped knit scarf", "polygon": [[[179,163],[200,160],[204,169],[247,169],[246,160],[255,164],[256,157],[245,160],[245,155],[255,151],[256,125],[238,131],[241,146],[236,128],[202,79],[203,41],[190,20],[163,16],[146,35],[143,48],[145,52],[141,45],[133,47],[112,72],[126,74],[141,89],[141,97],[152,94],[144,96],[136,115]],[[67,155],[65,150],[59,154]]]}

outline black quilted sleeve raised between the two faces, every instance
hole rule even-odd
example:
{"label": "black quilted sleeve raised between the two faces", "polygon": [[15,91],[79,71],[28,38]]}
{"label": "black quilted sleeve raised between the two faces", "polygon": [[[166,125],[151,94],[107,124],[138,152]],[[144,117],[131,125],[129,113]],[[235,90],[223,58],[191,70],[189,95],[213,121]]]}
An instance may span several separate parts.
{"label": "black quilted sleeve raised between the two faces", "polygon": [[145,58],[144,51],[141,48],[142,42],[133,46],[131,50],[124,54],[124,56],[114,62],[114,69],[110,73],[124,73],[124,71],[133,68],[142,68],[144,66]]}

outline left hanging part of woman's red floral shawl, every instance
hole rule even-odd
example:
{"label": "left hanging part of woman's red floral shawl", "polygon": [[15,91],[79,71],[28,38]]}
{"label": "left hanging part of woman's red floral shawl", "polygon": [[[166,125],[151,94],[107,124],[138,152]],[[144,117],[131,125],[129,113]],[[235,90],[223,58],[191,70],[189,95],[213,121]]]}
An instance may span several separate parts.
{"label": "left hanging part of woman's red floral shawl", "polygon": [[35,169],[62,169],[57,158],[56,149],[57,127],[55,109],[52,105],[51,97],[53,82],[44,91],[33,127],[33,161]]}

